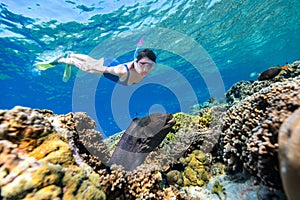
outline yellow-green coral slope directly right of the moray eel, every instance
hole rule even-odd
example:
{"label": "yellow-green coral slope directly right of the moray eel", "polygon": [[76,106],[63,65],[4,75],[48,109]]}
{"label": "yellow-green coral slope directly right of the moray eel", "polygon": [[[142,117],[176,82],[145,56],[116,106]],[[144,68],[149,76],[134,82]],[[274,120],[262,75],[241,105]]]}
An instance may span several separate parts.
{"label": "yellow-green coral slope directly right of the moray eel", "polygon": [[223,110],[222,106],[214,106],[197,112],[200,116],[182,112],[173,114],[176,119],[173,131],[166,136],[160,148],[150,153],[145,163],[156,164],[166,170],[170,164],[193,150],[212,151],[221,134],[219,119]]}

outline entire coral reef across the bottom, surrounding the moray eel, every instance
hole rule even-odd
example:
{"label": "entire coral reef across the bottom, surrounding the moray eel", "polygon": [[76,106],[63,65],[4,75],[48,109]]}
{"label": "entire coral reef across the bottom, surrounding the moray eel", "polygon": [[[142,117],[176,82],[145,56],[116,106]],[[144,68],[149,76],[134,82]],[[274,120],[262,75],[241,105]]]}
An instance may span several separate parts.
{"label": "entire coral reef across the bottom, surrounding the moray eel", "polygon": [[289,68],[174,113],[133,171],[109,164],[123,132],[103,139],[85,113],[0,110],[0,199],[297,199],[300,62]]}

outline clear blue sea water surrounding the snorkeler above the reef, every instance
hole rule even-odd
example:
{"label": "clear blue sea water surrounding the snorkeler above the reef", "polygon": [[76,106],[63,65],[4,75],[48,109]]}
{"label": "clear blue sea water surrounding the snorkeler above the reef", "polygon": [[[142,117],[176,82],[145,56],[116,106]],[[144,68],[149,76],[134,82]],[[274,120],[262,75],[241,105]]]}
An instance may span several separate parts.
{"label": "clear blue sea water surrounding the snorkeler above the reef", "polygon": [[[105,135],[151,112],[188,112],[240,80],[300,59],[299,0],[1,2],[0,108],[87,112]],[[75,67],[64,83],[63,65],[34,67],[65,51],[126,62],[143,36],[158,65],[137,85]]]}

